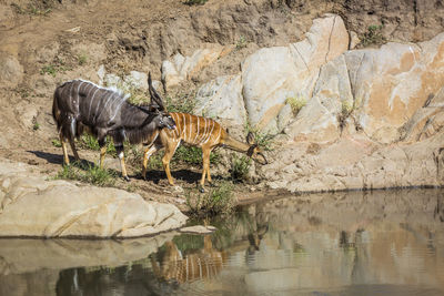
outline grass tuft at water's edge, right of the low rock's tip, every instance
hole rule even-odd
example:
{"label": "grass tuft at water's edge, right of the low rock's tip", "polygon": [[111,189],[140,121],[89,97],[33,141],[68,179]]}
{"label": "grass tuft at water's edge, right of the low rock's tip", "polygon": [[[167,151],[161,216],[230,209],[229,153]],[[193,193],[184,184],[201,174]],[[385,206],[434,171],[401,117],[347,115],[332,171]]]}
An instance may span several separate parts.
{"label": "grass tuft at water's edge, right of the low rock's tip", "polygon": [[206,193],[198,190],[185,193],[189,214],[194,217],[228,215],[234,210],[233,184],[221,182]]}

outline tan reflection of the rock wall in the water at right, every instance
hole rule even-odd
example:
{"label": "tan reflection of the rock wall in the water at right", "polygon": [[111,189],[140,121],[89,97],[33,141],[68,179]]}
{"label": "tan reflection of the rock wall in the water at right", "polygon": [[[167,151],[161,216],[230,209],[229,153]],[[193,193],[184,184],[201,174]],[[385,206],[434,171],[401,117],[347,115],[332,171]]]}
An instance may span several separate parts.
{"label": "tan reflection of the rock wall in the water at right", "polygon": [[[249,292],[341,289],[356,283],[442,290],[442,190],[312,194],[263,203],[270,223],[256,252],[229,264],[251,271]],[[258,215],[258,213],[256,213]],[[239,239],[250,225],[238,225]],[[235,241],[235,238],[232,238]],[[241,267],[242,268],[242,267]],[[246,294],[246,293],[245,293]],[[297,293],[295,293],[297,294]]]}

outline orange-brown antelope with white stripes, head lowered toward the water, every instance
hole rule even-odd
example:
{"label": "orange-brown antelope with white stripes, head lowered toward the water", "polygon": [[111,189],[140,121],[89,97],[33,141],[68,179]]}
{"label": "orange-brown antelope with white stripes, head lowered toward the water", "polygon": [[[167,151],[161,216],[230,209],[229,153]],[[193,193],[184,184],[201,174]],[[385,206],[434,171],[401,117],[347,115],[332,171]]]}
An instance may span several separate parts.
{"label": "orange-brown antelope with white stripes, head lowered toward the water", "polygon": [[162,163],[165,170],[168,182],[174,185],[170,172],[170,161],[181,142],[202,149],[203,172],[201,188],[205,183],[205,176],[211,183],[210,153],[218,146],[228,147],[238,152],[246,153],[260,164],[266,164],[266,159],[260,147],[254,143],[253,134],[246,136],[246,144],[232,139],[228,132],[214,120],[192,115],[189,113],[170,113],[175,122],[173,130],[160,130],[157,140],[148,146],[143,155],[142,176],[147,175],[147,165],[150,156],[158,150],[164,147]]}

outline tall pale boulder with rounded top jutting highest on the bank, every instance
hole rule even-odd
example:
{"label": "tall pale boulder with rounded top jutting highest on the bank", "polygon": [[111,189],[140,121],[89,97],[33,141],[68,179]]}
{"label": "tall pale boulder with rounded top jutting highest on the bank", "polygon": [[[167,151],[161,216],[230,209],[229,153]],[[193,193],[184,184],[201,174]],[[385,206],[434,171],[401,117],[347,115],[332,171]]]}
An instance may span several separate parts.
{"label": "tall pale boulder with rounded top jutting highest on the bank", "polygon": [[[289,47],[265,48],[242,63],[243,96],[250,123],[279,132],[278,116],[290,98],[309,101],[320,68],[349,48],[349,34],[339,16],[313,21],[306,38]],[[286,120],[287,121],[287,120]]]}

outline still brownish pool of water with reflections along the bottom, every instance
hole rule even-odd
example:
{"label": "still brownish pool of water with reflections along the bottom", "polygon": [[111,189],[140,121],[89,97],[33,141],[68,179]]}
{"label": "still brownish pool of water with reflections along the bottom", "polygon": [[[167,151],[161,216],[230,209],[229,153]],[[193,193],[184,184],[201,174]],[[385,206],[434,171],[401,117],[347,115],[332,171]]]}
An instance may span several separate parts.
{"label": "still brownish pool of water with reflections along the bottom", "polygon": [[0,295],[444,295],[444,191],[290,196],[212,235],[0,239]]}

